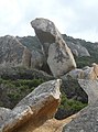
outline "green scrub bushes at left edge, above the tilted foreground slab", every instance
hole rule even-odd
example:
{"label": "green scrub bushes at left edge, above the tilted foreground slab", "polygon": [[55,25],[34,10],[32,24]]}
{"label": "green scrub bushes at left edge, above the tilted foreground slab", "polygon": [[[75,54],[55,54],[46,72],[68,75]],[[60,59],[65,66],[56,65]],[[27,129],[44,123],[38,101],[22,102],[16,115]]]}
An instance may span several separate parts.
{"label": "green scrub bushes at left edge, above the tilted foreground slab", "polygon": [[[9,108],[13,108],[22,98],[29,95],[32,90],[35,89],[39,85],[44,82],[43,79],[2,79],[0,78],[0,87],[3,87],[1,91],[1,98],[7,98],[8,101],[1,101],[0,106],[8,107],[8,102],[10,102]],[[3,99],[2,99],[3,100]]]}

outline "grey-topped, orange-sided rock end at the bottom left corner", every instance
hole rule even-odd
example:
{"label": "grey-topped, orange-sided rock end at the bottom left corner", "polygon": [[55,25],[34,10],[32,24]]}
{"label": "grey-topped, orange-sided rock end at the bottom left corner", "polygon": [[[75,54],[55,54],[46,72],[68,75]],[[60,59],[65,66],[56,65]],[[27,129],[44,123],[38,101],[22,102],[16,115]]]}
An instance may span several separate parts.
{"label": "grey-topped, orange-sided rock end at the bottom left corner", "polygon": [[22,125],[26,120],[31,118],[33,111],[29,106],[15,107],[0,124],[0,132],[11,132],[13,128]]}

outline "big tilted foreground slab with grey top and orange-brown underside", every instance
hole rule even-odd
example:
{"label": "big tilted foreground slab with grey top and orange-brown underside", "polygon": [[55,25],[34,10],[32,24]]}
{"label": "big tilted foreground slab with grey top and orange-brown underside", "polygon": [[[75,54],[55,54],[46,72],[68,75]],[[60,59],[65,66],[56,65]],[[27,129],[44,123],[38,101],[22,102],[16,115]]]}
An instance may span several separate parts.
{"label": "big tilted foreground slab with grey top and orange-brown underside", "polygon": [[59,105],[61,80],[51,80],[40,85],[22,99],[0,122],[0,132],[26,132],[54,117]]}

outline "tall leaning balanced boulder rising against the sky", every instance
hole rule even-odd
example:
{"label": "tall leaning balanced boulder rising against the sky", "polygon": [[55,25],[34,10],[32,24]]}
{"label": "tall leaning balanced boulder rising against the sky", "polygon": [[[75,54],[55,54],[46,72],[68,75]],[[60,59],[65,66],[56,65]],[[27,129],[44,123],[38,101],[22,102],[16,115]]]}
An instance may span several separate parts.
{"label": "tall leaning balanced boulder rising against the sky", "polygon": [[54,77],[59,77],[76,67],[69,47],[52,21],[35,19],[31,25],[43,45],[47,64]]}

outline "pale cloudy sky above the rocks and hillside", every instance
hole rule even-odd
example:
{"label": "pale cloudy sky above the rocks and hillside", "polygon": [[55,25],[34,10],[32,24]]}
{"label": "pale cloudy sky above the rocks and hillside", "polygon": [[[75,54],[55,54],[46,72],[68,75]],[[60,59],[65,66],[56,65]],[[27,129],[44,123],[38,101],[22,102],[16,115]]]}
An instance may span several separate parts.
{"label": "pale cloudy sky above the rocks and hillside", "polygon": [[35,18],[53,21],[62,34],[98,42],[98,0],[0,0],[0,36],[35,35]]}

